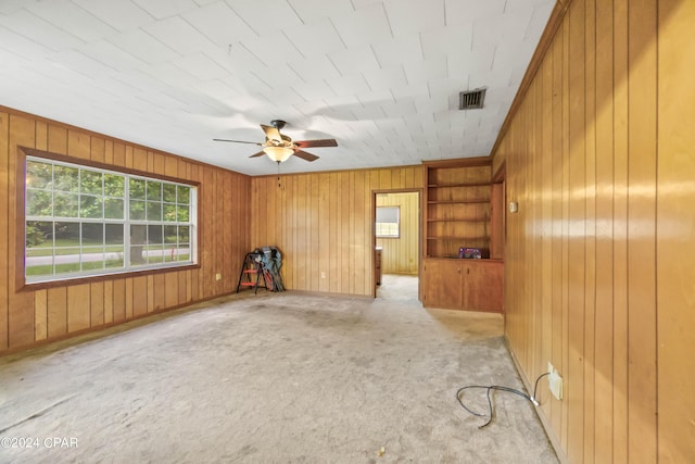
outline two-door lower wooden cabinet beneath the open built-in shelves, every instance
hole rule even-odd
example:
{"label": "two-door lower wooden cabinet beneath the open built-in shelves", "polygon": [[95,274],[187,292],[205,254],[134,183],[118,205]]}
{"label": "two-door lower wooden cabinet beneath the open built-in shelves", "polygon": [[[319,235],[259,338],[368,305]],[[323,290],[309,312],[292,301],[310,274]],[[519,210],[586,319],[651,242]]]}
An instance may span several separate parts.
{"label": "two-door lower wooden cabinet beneath the open built-in shelves", "polygon": [[422,263],[422,305],[502,312],[504,262],[430,258]]}

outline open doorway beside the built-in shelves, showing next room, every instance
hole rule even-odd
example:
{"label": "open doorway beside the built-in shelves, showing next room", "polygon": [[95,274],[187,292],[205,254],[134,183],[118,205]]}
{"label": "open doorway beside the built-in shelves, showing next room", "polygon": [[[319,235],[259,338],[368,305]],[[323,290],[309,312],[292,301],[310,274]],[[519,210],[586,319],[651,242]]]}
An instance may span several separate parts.
{"label": "open doorway beside the built-in shelves, showing next room", "polygon": [[[418,298],[420,268],[420,191],[375,191],[374,237],[375,287],[374,296],[387,298],[387,286],[407,278]],[[393,276],[393,277],[391,277]],[[397,279],[396,277],[403,277]]]}

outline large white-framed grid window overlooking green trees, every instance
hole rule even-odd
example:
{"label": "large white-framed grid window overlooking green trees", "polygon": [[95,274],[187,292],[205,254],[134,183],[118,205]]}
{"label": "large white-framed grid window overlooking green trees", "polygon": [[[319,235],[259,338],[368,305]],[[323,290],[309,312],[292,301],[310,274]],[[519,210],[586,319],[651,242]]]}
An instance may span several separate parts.
{"label": "large white-framed grid window overlooking green trees", "polygon": [[27,283],[190,265],[195,187],[26,158]]}

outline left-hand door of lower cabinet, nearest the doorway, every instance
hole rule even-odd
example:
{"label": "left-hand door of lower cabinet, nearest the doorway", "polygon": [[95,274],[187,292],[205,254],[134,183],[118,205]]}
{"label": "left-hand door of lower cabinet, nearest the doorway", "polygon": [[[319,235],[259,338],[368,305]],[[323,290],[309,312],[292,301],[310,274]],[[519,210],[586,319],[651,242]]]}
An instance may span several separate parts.
{"label": "left-hand door of lower cabinet, nearest the doorway", "polygon": [[463,303],[458,260],[427,260],[424,263],[422,305],[459,310]]}

